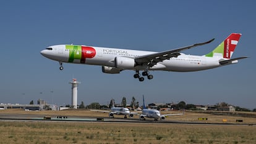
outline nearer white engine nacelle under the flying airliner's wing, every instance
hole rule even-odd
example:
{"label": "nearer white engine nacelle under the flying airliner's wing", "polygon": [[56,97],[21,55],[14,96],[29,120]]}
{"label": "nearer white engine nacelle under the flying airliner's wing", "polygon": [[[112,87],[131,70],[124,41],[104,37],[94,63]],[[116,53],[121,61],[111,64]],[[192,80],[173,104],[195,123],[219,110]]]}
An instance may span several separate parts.
{"label": "nearer white engine nacelle under the flying airliner's wing", "polygon": [[134,58],[116,57],[114,61],[116,62],[116,68],[132,69],[135,66]]}

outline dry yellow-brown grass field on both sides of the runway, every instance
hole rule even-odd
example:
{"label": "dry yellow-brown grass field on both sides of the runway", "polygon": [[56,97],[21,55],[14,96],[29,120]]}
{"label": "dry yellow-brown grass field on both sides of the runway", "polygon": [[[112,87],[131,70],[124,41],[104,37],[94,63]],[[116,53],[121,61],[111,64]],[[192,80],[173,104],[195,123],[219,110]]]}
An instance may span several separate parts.
{"label": "dry yellow-brown grass field on both sides of the runway", "polygon": [[[0,111],[0,113],[30,111]],[[39,111],[32,114],[108,116],[92,111]],[[186,113],[168,119],[197,121],[198,117],[233,121],[237,117]],[[233,118],[234,117],[234,118]],[[122,116],[120,117],[122,118]],[[166,119],[166,120],[168,120]],[[255,118],[246,121],[255,123]],[[115,122],[7,122],[0,121],[0,143],[256,143],[256,127]]]}

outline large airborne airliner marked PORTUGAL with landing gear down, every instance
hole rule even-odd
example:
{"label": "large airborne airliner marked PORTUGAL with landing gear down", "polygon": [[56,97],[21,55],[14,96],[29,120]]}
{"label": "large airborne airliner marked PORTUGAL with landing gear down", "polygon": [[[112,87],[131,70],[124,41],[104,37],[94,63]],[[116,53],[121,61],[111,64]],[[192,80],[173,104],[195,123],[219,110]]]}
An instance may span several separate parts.
{"label": "large airborne airliner marked PORTUGAL with landing gear down", "polygon": [[[200,71],[237,63],[239,59],[247,58],[231,59],[240,37],[241,34],[232,33],[216,49],[202,56],[186,55],[181,51],[208,44],[214,39],[163,52],[62,44],[49,46],[40,53],[46,58],[58,61],[60,70],[63,70],[62,63],[100,65],[103,73],[117,74],[122,70],[134,70],[134,78],[144,81],[142,76],[153,78],[150,70]],[[140,71],[143,71],[142,76]]]}

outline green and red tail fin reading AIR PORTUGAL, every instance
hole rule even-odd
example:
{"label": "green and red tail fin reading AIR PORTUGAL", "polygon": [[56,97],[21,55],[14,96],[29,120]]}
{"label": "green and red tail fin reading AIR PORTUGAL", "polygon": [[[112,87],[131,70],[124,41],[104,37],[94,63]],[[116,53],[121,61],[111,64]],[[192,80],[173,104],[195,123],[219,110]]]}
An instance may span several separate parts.
{"label": "green and red tail fin reading AIR PORTUGAL", "polygon": [[231,33],[221,44],[205,57],[221,57],[230,59],[242,34]]}

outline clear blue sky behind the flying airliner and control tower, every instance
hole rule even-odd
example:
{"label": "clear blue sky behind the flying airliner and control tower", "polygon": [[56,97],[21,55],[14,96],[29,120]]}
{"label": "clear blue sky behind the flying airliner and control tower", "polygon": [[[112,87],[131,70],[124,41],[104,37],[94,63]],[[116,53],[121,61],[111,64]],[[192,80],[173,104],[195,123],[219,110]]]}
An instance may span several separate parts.
{"label": "clear blue sky behind the flying airliner and control tower", "polygon": [[[226,102],[256,108],[255,1],[2,1],[0,4],[0,103],[71,103],[72,78],[82,82],[78,103],[142,104]],[[236,65],[175,73],[153,71],[139,82],[134,71],[105,74],[101,66],[59,63],[40,55],[55,44],[163,51],[208,41],[184,51],[204,55],[230,33],[242,33]],[[53,90],[53,93],[51,93]]]}

